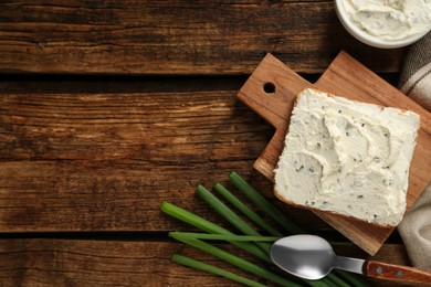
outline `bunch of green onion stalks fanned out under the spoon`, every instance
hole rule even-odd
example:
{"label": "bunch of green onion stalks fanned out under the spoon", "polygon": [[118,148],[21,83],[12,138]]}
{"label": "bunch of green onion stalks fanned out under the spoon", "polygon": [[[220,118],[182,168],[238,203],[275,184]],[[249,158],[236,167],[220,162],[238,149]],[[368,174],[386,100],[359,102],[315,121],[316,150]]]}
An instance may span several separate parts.
{"label": "bunch of green onion stalks fanned out under the spoon", "polygon": [[[235,185],[250,201],[265,214],[267,214],[284,232],[288,234],[304,234],[305,231],[297,226],[294,222],[287,219],[284,213],[282,213],[275,205],[267,201],[262,194],[259,193],[251,184],[243,180],[238,173],[231,172],[229,180]],[[207,204],[209,204],[214,211],[217,211],[221,216],[223,216],[230,224],[232,224],[238,231],[243,235],[234,234],[233,232],[223,228],[210,221],[207,221],[189,211],[186,211],[175,204],[162,202],[161,211],[170,216],[174,216],[180,221],[183,221],[202,232],[192,233],[192,232],[170,232],[169,236],[180,241],[185,244],[199,248],[203,252],[207,252],[224,262],[230,263],[231,265],[241,268],[245,272],[257,275],[262,278],[265,278],[269,281],[275,283],[281,286],[299,286],[297,283],[294,283],[285,277],[280,276],[276,273],[270,272],[265,268],[262,268],[253,263],[250,263],[245,259],[242,259],[233,254],[230,254],[219,247],[216,247],[204,241],[224,241],[231,243],[245,252],[256,256],[260,259],[263,259],[266,263],[271,263],[270,249],[272,243],[276,240],[283,237],[283,233],[280,232],[274,226],[270,225],[265,220],[263,220],[257,213],[239,200],[233,193],[225,189],[222,184],[217,183],[213,185],[213,190],[218,192],[229,204],[240,211],[245,215],[252,223],[262,228],[269,234],[262,235],[255,228],[253,228],[249,223],[246,223],[242,217],[240,217],[231,208],[224,204],[219,200],[214,194],[207,190],[202,185],[198,185],[196,189],[197,195],[202,199]],[[261,283],[255,280],[235,275],[231,272],[221,269],[216,266],[189,258],[182,255],[175,254],[172,261],[185,266],[197,268],[200,270],[206,270],[208,273],[217,274],[219,276],[229,278],[231,280],[244,284],[246,286],[262,286]],[[347,272],[338,273],[341,275],[343,279],[330,273],[327,277],[320,280],[303,280],[304,284],[313,287],[326,287],[326,286],[367,286],[360,278],[349,274]],[[344,279],[348,280],[346,283]]]}

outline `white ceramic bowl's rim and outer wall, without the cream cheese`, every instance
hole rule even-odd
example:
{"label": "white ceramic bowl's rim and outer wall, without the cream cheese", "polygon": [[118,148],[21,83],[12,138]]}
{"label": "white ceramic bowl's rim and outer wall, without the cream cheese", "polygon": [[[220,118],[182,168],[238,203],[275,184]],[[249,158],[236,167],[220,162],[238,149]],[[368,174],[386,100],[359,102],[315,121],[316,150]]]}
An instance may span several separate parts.
{"label": "white ceramic bowl's rim and outer wall, without the cream cheese", "polygon": [[410,38],[406,38],[403,40],[397,40],[397,41],[382,40],[380,38],[368,34],[367,32],[360,30],[355,23],[353,23],[346,13],[343,1],[346,0],[335,0],[335,11],[337,12],[339,21],[354,38],[370,46],[381,47],[381,49],[396,49],[396,47],[407,46],[417,42],[419,39],[424,36],[431,30],[430,28],[428,31],[424,31],[421,34],[416,34]]}

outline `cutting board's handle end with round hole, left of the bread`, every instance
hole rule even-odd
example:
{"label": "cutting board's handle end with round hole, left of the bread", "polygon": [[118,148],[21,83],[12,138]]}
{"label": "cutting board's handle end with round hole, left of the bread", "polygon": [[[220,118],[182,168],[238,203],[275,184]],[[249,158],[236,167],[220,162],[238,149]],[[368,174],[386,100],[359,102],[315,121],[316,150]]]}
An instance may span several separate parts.
{"label": "cutting board's handle end with round hole, left of the bread", "polygon": [[238,93],[242,103],[263,117],[273,127],[275,135],[254,162],[254,168],[267,179],[283,150],[291,110],[296,95],[312,84],[267,54]]}

